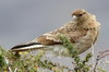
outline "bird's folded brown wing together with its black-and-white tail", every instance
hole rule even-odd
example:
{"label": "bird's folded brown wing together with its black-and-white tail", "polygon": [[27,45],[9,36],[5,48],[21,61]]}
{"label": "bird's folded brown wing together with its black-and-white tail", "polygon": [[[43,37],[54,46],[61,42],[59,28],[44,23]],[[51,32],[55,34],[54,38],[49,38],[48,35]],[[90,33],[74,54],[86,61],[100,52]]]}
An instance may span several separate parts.
{"label": "bird's folded brown wing together with its black-and-white tail", "polygon": [[27,44],[14,46],[12,50],[22,51],[22,50],[38,49],[38,48],[43,49],[45,48],[45,45],[47,46],[47,45],[62,44],[60,39],[60,35],[64,35],[72,43],[75,43],[76,39],[85,36],[86,33],[87,33],[87,29],[78,28],[76,26],[76,23],[70,22],[65,24],[64,26],[60,27],[59,29],[56,29],[50,33],[46,33]]}

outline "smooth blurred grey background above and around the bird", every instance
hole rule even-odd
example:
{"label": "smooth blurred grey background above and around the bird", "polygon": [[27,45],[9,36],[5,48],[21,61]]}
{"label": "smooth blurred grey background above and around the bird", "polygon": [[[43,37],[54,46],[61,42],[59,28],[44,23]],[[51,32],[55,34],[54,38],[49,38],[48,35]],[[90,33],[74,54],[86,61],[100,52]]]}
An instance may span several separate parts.
{"label": "smooth blurred grey background above and around the bird", "polygon": [[95,52],[109,49],[109,0],[0,0],[0,45],[10,49],[59,28],[75,9],[87,10],[101,23]]}

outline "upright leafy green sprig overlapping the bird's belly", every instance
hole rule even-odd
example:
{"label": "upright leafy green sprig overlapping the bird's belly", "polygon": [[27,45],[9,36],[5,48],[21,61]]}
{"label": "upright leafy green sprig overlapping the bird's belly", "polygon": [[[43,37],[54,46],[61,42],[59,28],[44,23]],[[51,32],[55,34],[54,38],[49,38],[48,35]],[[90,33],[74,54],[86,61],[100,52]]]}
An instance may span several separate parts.
{"label": "upright leafy green sprig overlapping the bird's belly", "polygon": [[63,46],[68,48],[69,53],[73,58],[73,61],[74,61],[73,64],[75,65],[74,71],[88,72],[90,70],[90,67],[86,63],[92,58],[92,52],[87,53],[84,60],[81,60],[77,49],[73,48],[73,44],[71,44],[71,41],[65,36],[60,36],[60,39],[62,40]]}

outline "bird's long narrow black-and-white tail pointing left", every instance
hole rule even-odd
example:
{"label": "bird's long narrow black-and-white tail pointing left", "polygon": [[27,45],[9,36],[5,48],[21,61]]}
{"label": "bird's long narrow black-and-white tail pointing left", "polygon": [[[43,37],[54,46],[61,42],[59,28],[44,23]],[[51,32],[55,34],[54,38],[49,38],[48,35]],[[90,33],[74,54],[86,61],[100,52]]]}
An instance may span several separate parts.
{"label": "bird's long narrow black-and-white tail pointing left", "polygon": [[44,49],[46,46],[39,43],[28,43],[23,45],[17,45],[11,48],[12,51],[26,51],[35,49]]}

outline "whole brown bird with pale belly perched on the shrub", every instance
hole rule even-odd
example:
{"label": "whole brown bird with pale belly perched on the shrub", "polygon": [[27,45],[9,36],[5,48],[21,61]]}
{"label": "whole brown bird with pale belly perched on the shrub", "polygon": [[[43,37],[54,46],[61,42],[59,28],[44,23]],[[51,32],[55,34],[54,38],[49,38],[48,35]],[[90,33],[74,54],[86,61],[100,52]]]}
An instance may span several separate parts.
{"label": "whole brown bird with pale belly perched on the shrub", "polygon": [[[62,45],[60,35],[64,35],[73,48],[76,48],[80,53],[85,52],[95,44],[98,38],[100,23],[94,14],[90,14],[84,9],[76,9],[72,13],[72,20],[62,27],[52,32],[40,35],[39,37],[26,43],[16,45],[11,48],[12,51],[26,50],[44,50],[51,51],[56,55],[69,56],[68,49]],[[72,53],[73,55],[73,53]]]}

